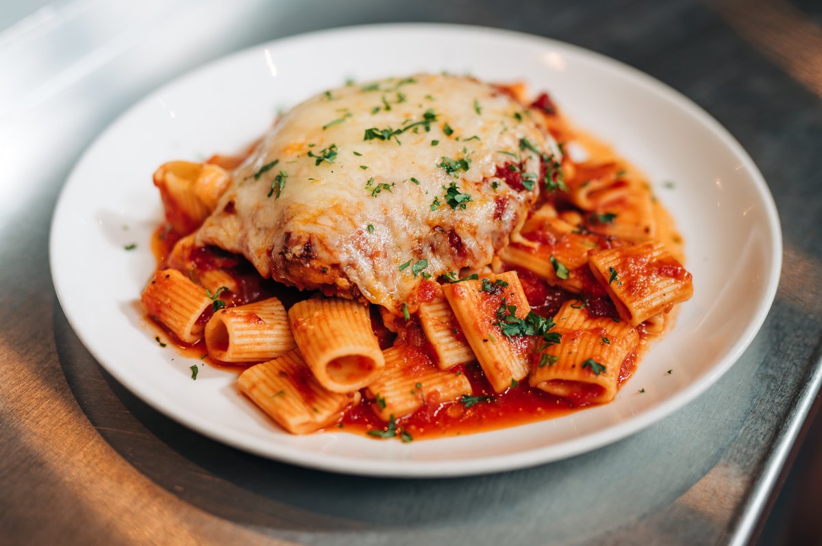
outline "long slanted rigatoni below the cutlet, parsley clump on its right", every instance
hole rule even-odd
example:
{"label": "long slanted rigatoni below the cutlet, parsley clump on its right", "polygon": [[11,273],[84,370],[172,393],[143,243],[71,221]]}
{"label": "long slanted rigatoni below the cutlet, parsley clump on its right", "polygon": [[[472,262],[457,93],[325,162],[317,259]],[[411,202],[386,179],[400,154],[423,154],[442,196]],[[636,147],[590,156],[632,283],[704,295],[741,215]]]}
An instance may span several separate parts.
{"label": "long slanted rigatoni below the cutlet, parsley clump on its right", "polygon": [[[529,373],[528,352],[531,340],[526,337],[506,337],[496,323],[497,310],[505,298],[506,305],[515,306],[515,315],[524,319],[531,310],[515,271],[487,275],[487,282],[499,287],[496,293],[483,291],[482,279],[446,284],[442,291],[454,311],[459,326],[479,360],[483,372],[496,392],[509,388],[511,381],[520,381]],[[496,284],[506,282],[506,287]]]}

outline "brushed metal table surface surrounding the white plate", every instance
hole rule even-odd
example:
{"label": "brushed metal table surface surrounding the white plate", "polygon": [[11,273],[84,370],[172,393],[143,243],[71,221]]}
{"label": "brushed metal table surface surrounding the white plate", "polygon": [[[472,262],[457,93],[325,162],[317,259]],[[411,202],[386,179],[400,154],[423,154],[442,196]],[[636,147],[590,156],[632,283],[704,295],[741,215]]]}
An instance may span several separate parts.
{"label": "brushed metal table surface surrounding the white plate", "polygon": [[[758,163],[782,218],[774,307],[695,402],[529,470],[367,479],[239,452],[159,415],[81,345],[48,228],[104,126],[182,71],[339,25],[500,26],[672,85]],[[819,2],[169,2],[0,7],[0,541],[4,544],[744,544],[822,381]],[[127,166],[124,166],[127,167]],[[94,274],[93,264],[77,264]],[[732,312],[732,311],[730,311]]]}

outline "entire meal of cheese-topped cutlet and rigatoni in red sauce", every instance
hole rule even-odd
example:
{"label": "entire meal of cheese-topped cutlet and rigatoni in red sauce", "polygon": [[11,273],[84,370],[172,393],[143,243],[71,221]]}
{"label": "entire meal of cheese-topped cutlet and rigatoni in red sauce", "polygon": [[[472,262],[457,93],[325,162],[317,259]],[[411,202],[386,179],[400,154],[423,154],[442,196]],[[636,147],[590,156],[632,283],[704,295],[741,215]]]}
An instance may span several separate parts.
{"label": "entire meal of cheese-topped cutlet and rigatoni in red sauce", "polygon": [[693,291],[640,171],[524,85],[330,89],[154,181],[145,310],[293,434],[408,442],[605,403]]}

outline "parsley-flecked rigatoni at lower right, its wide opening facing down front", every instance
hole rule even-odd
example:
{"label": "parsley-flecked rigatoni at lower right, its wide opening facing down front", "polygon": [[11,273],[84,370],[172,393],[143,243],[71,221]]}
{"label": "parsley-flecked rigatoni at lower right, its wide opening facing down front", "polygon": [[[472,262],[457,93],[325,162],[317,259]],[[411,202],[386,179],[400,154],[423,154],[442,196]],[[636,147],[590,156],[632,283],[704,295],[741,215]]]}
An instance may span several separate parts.
{"label": "parsley-flecked rigatoni at lower right, its wide opening facing down front", "polygon": [[544,346],[533,357],[532,387],[572,403],[611,401],[619,388],[622,361],[640,342],[626,323],[591,319],[566,302],[554,317],[560,342]]}

